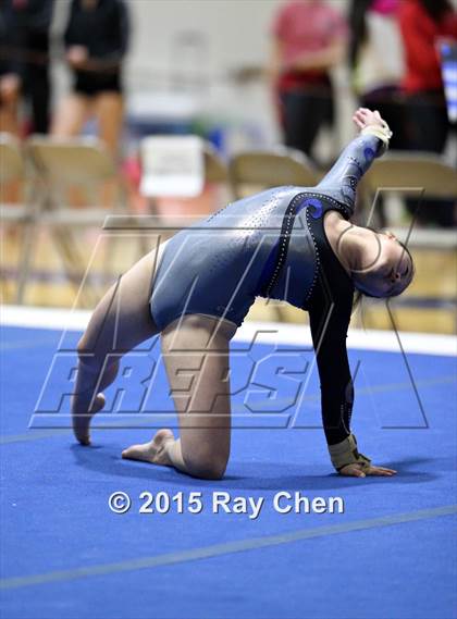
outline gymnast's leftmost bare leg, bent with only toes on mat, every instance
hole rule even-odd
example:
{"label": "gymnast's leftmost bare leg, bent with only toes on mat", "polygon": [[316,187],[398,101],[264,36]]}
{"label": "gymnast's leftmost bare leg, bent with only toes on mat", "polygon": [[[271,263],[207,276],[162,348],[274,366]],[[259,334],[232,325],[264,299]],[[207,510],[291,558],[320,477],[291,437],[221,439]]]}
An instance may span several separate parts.
{"label": "gymnast's leftmost bare leg, bent with only toes on mat", "polygon": [[102,392],[114,381],[120,357],[158,333],[149,297],[155,264],[164,246],[141,258],[108,290],[78,343],[72,417],[75,436],[83,445],[90,442],[90,420],[104,405]]}

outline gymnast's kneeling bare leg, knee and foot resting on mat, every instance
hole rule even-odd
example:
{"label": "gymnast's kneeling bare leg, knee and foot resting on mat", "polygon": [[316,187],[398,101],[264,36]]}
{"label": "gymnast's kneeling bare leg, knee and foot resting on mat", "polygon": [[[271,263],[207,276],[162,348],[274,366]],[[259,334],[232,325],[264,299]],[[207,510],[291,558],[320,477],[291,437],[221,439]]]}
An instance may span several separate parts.
{"label": "gymnast's kneeling bare leg, knee and foot resting on mat", "polygon": [[174,321],[162,332],[162,352],[180,418],[178,440],[160,430],[123,458],[175,467],[201,479],[221,479],[230,456],[228,343],[233,323],[205,315]]}

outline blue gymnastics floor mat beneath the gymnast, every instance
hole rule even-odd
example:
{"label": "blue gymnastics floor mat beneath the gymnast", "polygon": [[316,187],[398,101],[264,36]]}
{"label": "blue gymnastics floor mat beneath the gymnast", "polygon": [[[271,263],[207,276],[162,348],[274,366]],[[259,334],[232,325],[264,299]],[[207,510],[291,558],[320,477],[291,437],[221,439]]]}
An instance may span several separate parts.
{"label": "blue gymnastics floor mat beneath the gymnast", "polygon": [[[128,418],[140,381],[107,392],[110,401],[116,394],[121,414],[101,418],[108,428],[94,431],[91,447],[53,429],[67,425],[67,403],[54,414],[61,423],[37,412],[28,429],[37,403],[59,399],[55,373],[63,375],[63,366],[52,364],[60,335],[2,330],[2,619],[457,616],[455,358],[411,354],[407,366],[398,352],[349,351],[359,444],[376,463],[398,470],[393,479],[357,480],[330,467],[316,372],[309,370],[296,404],[297,347],[277,352],[255,344],[242,355],[235,345],[237,428],[226,476],[210,482],[121,459],[125,446],[153,432],[136,422],[128,429],[128,419],[143,419]],[[152,347],[135,362],[153,366],[158,355]],[[247,399],[249,360],[258,370]],[[155,404],[170,417],[160,368],[155,391]],[[108,506],[120,491],[132,500],[123,515]],[[139,512],[149,500],[141,493],[162,493],[155,512]],[[232,511],[220,506],[214,513],[213,500],[228,495]],[[296,512],[296,496],[321,507],[341,497],[344,512]],[[186,508],[192,497],[201,502],[198,513]],[[257,518],[233,511],[249,498],[263,499]]]}

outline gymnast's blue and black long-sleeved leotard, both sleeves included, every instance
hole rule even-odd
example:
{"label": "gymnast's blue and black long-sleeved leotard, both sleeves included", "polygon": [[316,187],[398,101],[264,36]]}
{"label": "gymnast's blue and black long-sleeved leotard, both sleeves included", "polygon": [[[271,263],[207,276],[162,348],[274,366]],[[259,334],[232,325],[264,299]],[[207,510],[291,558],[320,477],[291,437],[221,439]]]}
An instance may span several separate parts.
{"label": "gymnast's blue and black long-sleeved leotard, both sleeves included", "polygon": [[354,386],[346,351],[354,284],[326,239],[329,210],[349,219],[357,185],[383,150],[374,136],[349,144],[317,187],[276,187],[238,200],[169,240],[155,278],[159,329],[188,313],[242,324],[256,296],[309,312],[329,445],[350,433]]}

